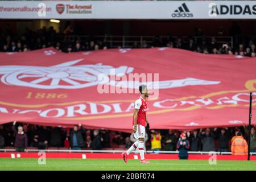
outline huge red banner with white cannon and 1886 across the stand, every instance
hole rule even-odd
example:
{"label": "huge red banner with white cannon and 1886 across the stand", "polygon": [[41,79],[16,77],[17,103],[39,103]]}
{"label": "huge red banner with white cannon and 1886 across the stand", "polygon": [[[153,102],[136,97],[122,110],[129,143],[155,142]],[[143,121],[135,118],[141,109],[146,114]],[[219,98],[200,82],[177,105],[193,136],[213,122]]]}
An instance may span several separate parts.
{"label": "huge red banner with white cannon and 1886 across the stand", "polygon": [[174,48],[0,53],[0,123],[131,131],[136,73],[154,92],[152,129],[247,125],[250,92],[256,123],[256,58]]}

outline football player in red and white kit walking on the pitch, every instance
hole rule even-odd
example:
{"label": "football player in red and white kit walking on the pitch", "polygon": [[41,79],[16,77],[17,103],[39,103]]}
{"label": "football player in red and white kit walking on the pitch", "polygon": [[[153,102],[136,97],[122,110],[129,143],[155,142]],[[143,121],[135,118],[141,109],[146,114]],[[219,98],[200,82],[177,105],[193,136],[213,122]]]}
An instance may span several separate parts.
{"label": "football player in red and white kit walking on the pitch", "polygon": [[147,121],[147,98],[150,94],[146,85],[139,86],[139,92],[141,96],[135,101],[134,104],[134,115],[133,115],[133,133],[134,138],[138,139],[133,145],[126,151],[122,153],[123,160],[127,163],[128,155],[136,150],[138,147],[139,155],[141,156],[141,163],[148,164],[144,158],[144,138],[145,132],[150,129],[150,125]]}

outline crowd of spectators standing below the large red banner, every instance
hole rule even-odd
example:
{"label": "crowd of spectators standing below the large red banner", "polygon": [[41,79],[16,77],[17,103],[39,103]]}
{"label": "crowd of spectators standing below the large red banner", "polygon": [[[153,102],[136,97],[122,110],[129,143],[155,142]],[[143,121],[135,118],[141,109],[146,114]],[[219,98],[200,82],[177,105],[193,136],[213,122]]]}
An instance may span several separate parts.
{"label": "crowd of spectators standing below the large red banner", "polygon": [[[181,140],[187,141],[188,151],[234,150],[237,139],[242,147],[247,147],[248,133],[246,126],[230,128],[197,129],[192,131],[150,130],[146,134],[146,149],[154,152],[179,150]],[[251,127],[250,152],[256,152],[255,127]],[[243,140],[245,139],[245,140]],[[73,128],[47,127],[26,123],[7,123],[0,125],[0,148],[15,147],[17,151],[32,147],[39,149],[72,150],[124,150],[136,139],[133,134],[111,130],[84,129],[81,125]],[[236,141],[235,141],[236,142]]]}

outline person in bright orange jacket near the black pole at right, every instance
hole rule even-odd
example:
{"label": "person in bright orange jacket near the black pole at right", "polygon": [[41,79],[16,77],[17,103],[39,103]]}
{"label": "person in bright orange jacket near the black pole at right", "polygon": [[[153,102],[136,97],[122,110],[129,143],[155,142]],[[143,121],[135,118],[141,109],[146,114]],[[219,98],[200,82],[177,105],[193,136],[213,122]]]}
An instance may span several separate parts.
{"label": "person in bright orange jacket near the black pole at right", "polygon": [[233,140],[231,146],[232,155],[247,155],[248,146],[246,140],[242,137],[242,133],[237,133],[236,139]]}

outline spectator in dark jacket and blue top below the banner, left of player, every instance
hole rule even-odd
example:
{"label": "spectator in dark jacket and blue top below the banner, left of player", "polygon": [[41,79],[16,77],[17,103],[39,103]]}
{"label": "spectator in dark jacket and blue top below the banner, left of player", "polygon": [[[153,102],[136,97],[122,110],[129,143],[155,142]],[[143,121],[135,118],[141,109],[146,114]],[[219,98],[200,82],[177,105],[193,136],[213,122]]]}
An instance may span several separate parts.
{"label": "spectator in dark jacket and blue top below the banner, left of player", "polygon": [[72,150],[82,150],[84,147],[84,135],[85,130],[82,127],[81,123],[73,127],[73,130],[70,132],[70,146]]}

